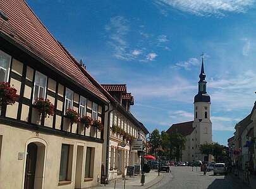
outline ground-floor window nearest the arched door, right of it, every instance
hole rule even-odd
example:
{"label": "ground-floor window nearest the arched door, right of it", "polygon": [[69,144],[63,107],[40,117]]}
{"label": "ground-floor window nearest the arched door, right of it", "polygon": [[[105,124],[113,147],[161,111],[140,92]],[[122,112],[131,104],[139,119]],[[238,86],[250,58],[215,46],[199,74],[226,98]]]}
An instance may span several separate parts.
{"label": "ground-floor window nearest the arched door, right of it", "polygon": [[59,168],[59,180],[68,180],[68,156],[70,154],[70,145],[62,144],[61,147],[61,166]]}

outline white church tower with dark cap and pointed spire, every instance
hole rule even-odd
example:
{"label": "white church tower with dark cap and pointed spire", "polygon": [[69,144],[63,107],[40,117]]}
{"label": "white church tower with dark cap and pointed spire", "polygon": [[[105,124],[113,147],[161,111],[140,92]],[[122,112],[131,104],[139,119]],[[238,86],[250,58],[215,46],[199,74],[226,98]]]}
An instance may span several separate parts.
{"label": "white church tower with dark cap and pointed spire", "polygon": [[[207,94],[204,72],[204,57],[202,57],[202,67],[200,73],[200,81],[198,82],[198,93],[194,98],[194,121],[193,121],[193,143],[195,151],[193,151],[194,160],[209,161],[200,153],[201,144],[212,143],[212,122],[210,121],[210,96]],[[211,157],[210,157],[211,158]]]}

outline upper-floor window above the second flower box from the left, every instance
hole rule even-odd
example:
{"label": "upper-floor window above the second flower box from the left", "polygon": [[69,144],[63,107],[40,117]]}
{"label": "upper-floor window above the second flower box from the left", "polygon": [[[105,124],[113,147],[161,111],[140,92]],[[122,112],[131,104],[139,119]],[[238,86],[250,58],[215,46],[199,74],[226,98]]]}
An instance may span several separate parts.
{"label": "upper-floor window above the second flower box from the left", "polygon": [[46,83],[47,77],[38,71],[35,72],[34,101],[37,98],[46,98]]}

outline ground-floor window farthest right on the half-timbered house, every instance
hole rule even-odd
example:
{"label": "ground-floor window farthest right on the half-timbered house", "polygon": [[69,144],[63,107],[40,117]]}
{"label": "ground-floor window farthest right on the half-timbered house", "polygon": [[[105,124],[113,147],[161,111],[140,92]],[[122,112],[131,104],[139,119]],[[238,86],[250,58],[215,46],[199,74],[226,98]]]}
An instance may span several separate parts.
{"label": "ground-floor window farthest right on the half-timbered house", "polygon": [[94,176],[94,147],[87,147],[85,159],[85,178]]}

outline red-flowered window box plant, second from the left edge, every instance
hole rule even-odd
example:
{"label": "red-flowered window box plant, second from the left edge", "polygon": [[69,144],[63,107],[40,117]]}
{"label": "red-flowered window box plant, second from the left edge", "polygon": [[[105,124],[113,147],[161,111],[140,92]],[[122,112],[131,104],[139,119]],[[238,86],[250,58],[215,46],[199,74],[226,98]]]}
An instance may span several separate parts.
{"label": "red-flowered window box plant, second from the left edge", "polygon": [[46,118],[47,115],[48,117],[54,115],[54,105],[52,105],[51,101],[48,99],[44,100],[44,98],[37,98],[34,105],[42,117]]}

